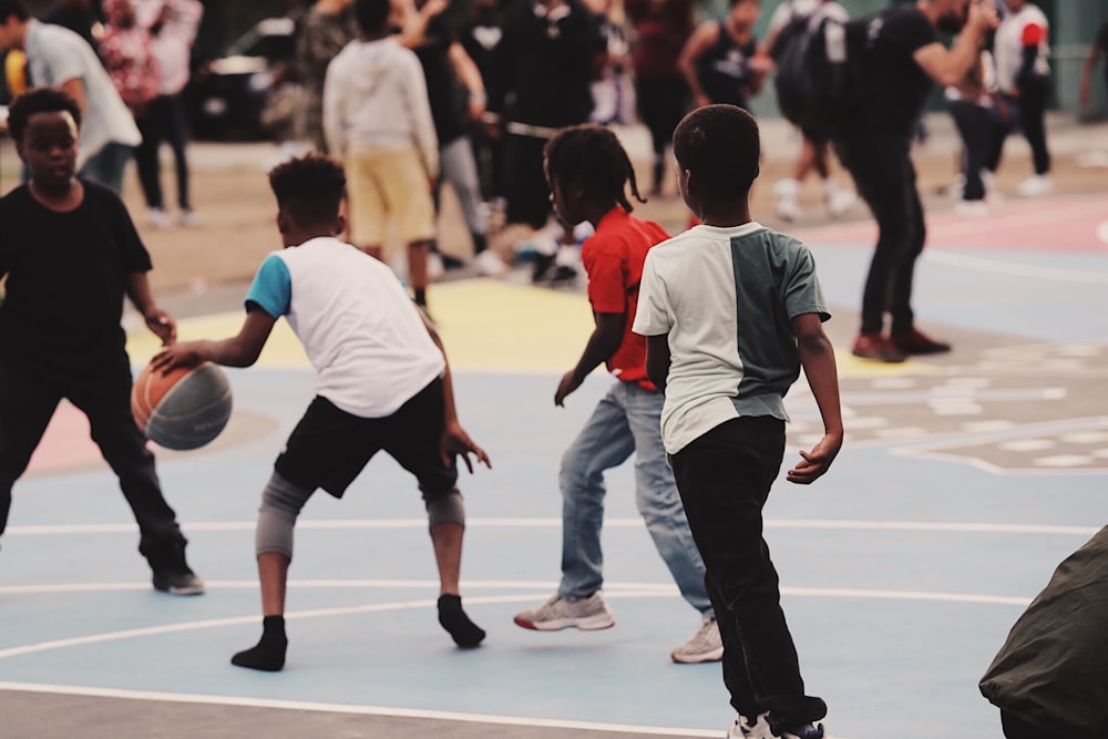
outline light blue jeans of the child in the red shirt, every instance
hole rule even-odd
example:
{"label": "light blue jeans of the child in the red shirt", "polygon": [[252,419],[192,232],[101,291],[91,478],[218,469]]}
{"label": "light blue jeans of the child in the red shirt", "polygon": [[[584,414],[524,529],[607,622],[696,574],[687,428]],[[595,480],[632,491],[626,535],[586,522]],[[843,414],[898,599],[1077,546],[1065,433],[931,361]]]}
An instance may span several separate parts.
{"label": "light blue jeans of the child in the red shirt", "polygon": [[654,545],[685,599],[701,614],[711,615],[704,562],[661,445],[663,401],[659,392],[615,382],[562,456],[561,597],[587,598],[604,584],[604,472],[634,453],[635,504]]}

